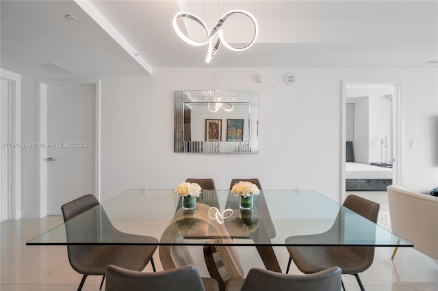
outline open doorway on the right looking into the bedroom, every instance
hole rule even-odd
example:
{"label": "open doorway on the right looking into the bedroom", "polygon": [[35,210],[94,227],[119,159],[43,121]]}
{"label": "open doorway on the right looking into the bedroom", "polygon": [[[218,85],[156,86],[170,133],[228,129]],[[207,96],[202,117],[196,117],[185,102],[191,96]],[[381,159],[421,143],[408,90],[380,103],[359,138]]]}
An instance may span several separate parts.
{"label": "open doorway on the right looking into the bedroom", "polygon": [[342,200],[400,183],[400,83],[342,81]]}

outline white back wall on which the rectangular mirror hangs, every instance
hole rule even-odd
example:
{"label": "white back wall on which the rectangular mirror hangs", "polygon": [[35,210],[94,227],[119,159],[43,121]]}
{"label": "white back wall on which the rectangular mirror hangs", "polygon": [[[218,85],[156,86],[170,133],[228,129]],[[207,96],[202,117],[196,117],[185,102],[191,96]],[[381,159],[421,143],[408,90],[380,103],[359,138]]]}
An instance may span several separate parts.
{"label": "white back wall on which the rectangular mirror hangs", "polygon": [[[296,75],[294,85],[283,82],[286,72]],[[342,79],[402,82],[402,179],[409,189],[430,191],[438,186],[437,77],[436,68],[157,68],[153,76],[103,76],[101,197],[211,177],[218,189],[231,178],[259,178],[265,189],[315,189],[339,201]],[[23,141],[35,141],[36,82],[23,79]],[[260,92],[258,154],[173,152],[173,92],[195,89]],[[23,217],[31,217],[35,150],[22,159]]]}

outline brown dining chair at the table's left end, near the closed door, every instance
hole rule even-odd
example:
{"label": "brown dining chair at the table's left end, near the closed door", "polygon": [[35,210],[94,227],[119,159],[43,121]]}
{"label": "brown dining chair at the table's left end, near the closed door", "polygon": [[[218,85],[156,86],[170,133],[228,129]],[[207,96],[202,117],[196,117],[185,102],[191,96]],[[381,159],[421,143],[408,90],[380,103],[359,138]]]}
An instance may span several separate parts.
{"label": "brown dining chair at the table's left end, near the closed door", "polygon": [[[61,206],[61,210],[64,216],[67,242],[72,239],[74,241],[74,238],[78,236],[90,238],[92,242],[99,235],[97,227],[101,227],[101,230],[105,231],[105,236],[114,238],[115,241],[118,239],[135,240],[142,243],[158,244],[158,240],[151,236],[138,236],[117,230],[94,195],[88,194],[70,201]],[[87,216],[86,221],[68,223],[70,219],[87,210],[94,211],[94,213]],[[81,219],[81,217],[77,217],[77,219]],[[157,245],[67,245],[70,265],[77,273],[83,275],[77,290],[82,289],[88,275],[103,275],[100,290],[105,280],[106,268],[110,264],[141,271],[151,261],[155,271],[152,258],[155,249],[157,249]]]}

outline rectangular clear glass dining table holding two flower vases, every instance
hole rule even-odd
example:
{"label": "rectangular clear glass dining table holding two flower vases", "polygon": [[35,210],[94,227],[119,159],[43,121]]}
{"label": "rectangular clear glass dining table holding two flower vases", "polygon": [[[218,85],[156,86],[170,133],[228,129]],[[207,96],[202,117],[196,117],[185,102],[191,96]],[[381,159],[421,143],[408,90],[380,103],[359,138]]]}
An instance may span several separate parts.
{"label": "rectangular clear glass dining table holding two flower vases", "polygon": [[[275,246],[413,247],[313,190],[263,189],[254,196],[250,210],[240,209],[240,197],[229,190],[203,190],[193,210],[182,208],[181,197],[173,193],[170,189],[124,191],[26,244],[149,244],[139,236],[117,236],[125,232],[153,236],[158,245],[255,246],[266,268],[279,272]],[[114,227],[119,232],[111,231]],[[318,240],[305,236],[320,233],[328,235]],[[301,239],[287,239],[294,236]]]}

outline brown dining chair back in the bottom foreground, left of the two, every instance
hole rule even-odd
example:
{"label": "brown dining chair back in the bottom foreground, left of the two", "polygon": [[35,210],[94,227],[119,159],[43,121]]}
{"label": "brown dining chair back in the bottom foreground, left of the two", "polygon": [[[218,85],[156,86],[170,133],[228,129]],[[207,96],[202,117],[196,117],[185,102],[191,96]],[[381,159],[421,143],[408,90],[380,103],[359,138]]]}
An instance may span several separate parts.
{"label": "brown dining chair back in the bottom foreground, left of the two", "polygon": [[[213,281],[205,286],[195,266],[182,266],[168,271],[146,273],[119,266],[107,267],[105,291],[217,291]],[[205,287],[204,287],[205,286]]]}

